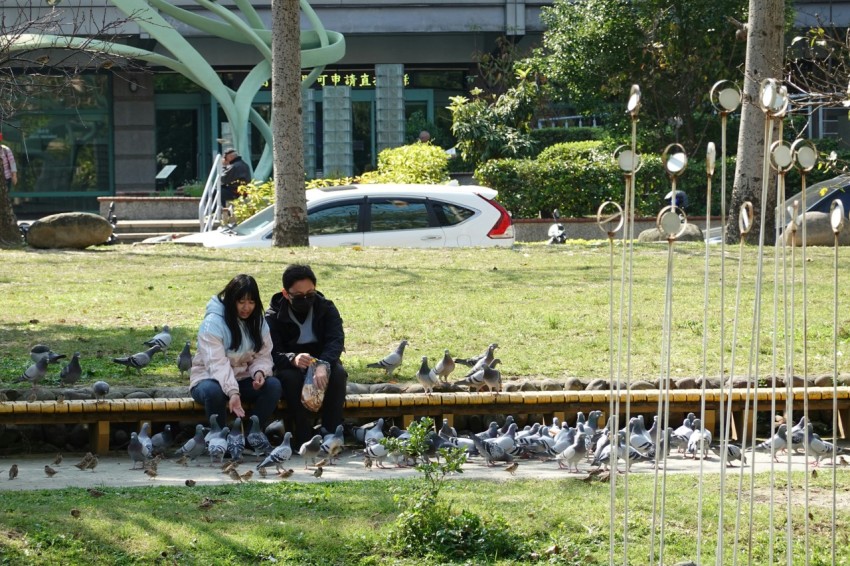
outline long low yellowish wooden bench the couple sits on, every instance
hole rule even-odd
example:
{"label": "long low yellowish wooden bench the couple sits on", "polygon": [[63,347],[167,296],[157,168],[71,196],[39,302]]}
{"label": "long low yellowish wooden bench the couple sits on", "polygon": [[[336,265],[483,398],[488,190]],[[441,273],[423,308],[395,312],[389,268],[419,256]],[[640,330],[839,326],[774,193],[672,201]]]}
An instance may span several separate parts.
{"label": "long low yellowish wooden bench the couple sits on", "polygon": [[[812,411],[831,411],[833,405],[832,387],[809,387],[809,409]],[[663,392],[659,390],[636,390],[631,392],[630,410],[636,414],[655,414],[658,399]],[[726,392],[727,396],[729,391]],[[629,395],[620,393],[620,414],[625,415]],[[746,389],[731,391],[733,408],[733,435],[743,426],[747,430],[755,418],[752,410],[753,399],[758,399],[758,411],[771,410],[772,392],[761,388],[756,396]],[[743,409],[747,398],[751,401],[748,422],[743,420]],[[804,390],[793,390],[794,412],[803,410]],[[728,397],[727,397],[728,398]],[[777,390],[776,410],[785,411],[785,389]],[[400,418],[407,426],[414,418],[430,416],[441,422],[447,419],[454,422],[455,415],[527,415],[539,414],[544,418],[558,417],[561,421],[573,422],[578,411],[587,414],[591,410],[609,413],[611,395],[608,391],[522,391],[511,393],[395,393],[348,395],[345,399],[344,415],[348,419],[372,419],[378,417]],[[698,413],[702,393],[700,390],[674,390],[670,392],[671,415]],[[850,425],[850,387],[838,388],[838,422],[841,437],[845,436],[846,426]],[[706,390],[706,428],[717,432],[720,391]],[[284,411],[283,403],[279,410]],[[90,425],[91,446],[97,453],[109,449],[110,426],[112,423],[138,423],[143,421],[197,421],[206,420],[203,406],[191,398],[174,399],[108,399],[104,401],[7,401],[0,402],[1,424],[57,424],[84,423]],[[600,423],[602,424],[602,423]],[[671,420],[678,426],[677,419]]]}

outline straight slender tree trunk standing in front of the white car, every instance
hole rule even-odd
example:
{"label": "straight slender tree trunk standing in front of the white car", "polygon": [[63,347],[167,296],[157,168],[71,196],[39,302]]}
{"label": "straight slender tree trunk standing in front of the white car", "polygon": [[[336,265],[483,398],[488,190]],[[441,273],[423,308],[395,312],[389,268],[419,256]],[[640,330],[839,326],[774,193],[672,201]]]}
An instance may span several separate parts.
{"label": "straight slender tree trunk standing in front of the white car", "polygon": [[276,247],[309,245],[301,112],[301,10],[298,0],[273,0],[273,245]]}

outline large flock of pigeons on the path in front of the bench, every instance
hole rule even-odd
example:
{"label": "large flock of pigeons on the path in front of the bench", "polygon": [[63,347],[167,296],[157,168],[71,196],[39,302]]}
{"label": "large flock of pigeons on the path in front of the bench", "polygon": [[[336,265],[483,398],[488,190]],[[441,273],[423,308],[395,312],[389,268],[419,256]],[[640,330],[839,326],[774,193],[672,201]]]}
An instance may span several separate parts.
{"label": "large flock of pigeons on the path in front of the bench", "polygon": [[[348,445],[345,428],[340,425],[333,432],[322,430],[322,434],[314,435],[296,450],[291,445],[290,432],[286,432],[281,443],[274,446],[256,416],[250,418],[250,429],[245,434],[241,419],[236,418],[230,426],[222,428],[218,425],[218,415],[212,415],[209,428],[196,425],[194,436],[176,448],[170,425],[151,435],[150,423],[143,423],[138,433],[131,434],[127,454],[133,464],[132,469],[141,466],[151,479],[157,476],[158,466],[163,460],[175,458],[172,461],[176,465],[187,467],[190,463],[200,466],[209,458],[209,466],[220,466],[222,473],[240,483],[250,480],[254,473],[265,478],[269,470],[280,478],[292,476],[294,469],[288,465],[296,453],[302,458],[304,469],[312,467],[312,475],[318,478],[322,476],[324,467],[339,462],[346,450],[351,452],[350,457],[362,458],[368,469],[373,466],[387,468],[388,461],[394,467],[412,466],[417,463],[417,457],[439,459],[441,449],[454,448],[464,451],[470,461],[480,461],[488,467],[504,465],[503,469],[511,474],[516,472],[523,460],[554,461],[560,469],[586,473],[587,481],[594,477],[605,481],[612,469],[620,471],[619,461],[623,461],[628,469],[639,462],[646,462],[651,468],[660,467],[674,449],[683,458],[690,456],[696,459],[705,458],[709,450],[720,455],[725,447],[728,466],[733,466],[736,461],[745,465],[746,452],[749,451],[767,453],[774,459],[778,459],[783,450],[793,453],[803,451],[812,458],[808,463],[814,467],[823,460],[832,459],[833,455],[838,458],[837,463],[845,467],[848,462],[844,456],[850,454],[850,450],[837,448],[815,434],[805,417],[792,427],[790,434],[787,425],[780,423],[771,438],[749,447],[747,451],[731,443],[712,443],[710,431],[702,427],[694,413],[689,413],[681,426],[668,428],[663,434],[657,428],[657,417],[654,417],[649,429],[645,427],[643,415],[638,415],[616,432],[611,431],[610,426],[600,426],[601,419],[601,411],[591,411],[586,418],[579,413],[574,427],[555,418],[548,425],[535,423],[520,429],[514,418],[508,416],[502,426],[491,422],[483,432],[469,435],[458,435],[448,420],[443,420],[439,429],[434,427],[429,431],[426,452],[417,456],[405,449],[409,433],[396,426],[390,426],[385,432],[384,419],[353,428]],[[276,424],[279,421],[273,423]],[[387,437],[398,442],[385,442],[383,439]],[[238,468],[245,463],[248,450],[254,462],[247,471],[240,472]],[[53,466],[58,466],[61,461],[62,456],[58,455]],[[94,471],[97,463],[97,457],[89,453],[75,466],[80,470]],[[58,473],[53,466],[45,465],[47,477]],[[17,474],[17,466],[12,466],[9,479],[15,479]],[[186,480],[186,483],[194,485],[195,482]]]}

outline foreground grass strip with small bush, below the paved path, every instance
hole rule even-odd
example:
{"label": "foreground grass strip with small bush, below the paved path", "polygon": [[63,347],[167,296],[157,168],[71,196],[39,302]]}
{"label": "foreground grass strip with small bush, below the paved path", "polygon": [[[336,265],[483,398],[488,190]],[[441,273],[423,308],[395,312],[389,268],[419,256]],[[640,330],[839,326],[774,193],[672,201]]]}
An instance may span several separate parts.
{"label": "foreground grass strip with small bush, below the paved path", "polygon": [[[826,478],[823,474],[821,478]],[[842,483],[847,473],[841,472]],[[767,484],[758,477],[758,485]],[[717,476],[704,478],[702,563],[713,564],[719,498]],[[697,477],[667,478],[664,564],[695,560],[697,545]],[[794,564],[803,563],[804,524],[802,477],[794,476],[796,493]],[[623,563],[622,479],[618,481],[615,563]],[[629,478],[629,564],[649,563],[653,478]],[[734,542],[737,481],[725,498],[728,519],[724,552],[731,563]],[[829,490],[827,479],[812,480],[812,491]],[[398,513],[412,482],[375,480],[326,484],[280,482],[217,487],[105,488],[91,497],[83,489],[4,492],[0,505],[0,562],[4,564],[521,564],[532,553],[548,564],[608,563],[609,484],[584,483],[576,478],[548,481],[452,481],[441,497],[455,511],[469,510],[482,517],[503,518],[510,532],[523,541],[522,555],[511,559],[494,555],[470,558],[407,556],[388,543]],[[777,485],[782,491],[784,486]],[[199,505],[215,501],[209,509]],[[831,508],[823,501],[810,503],[812,564],[830,559]],[[752,529],[752,563],[769,563],[768,504],[756,499]],[[79,518],[71,510],[79,511]],[[659,507],[660,509],[660,507]],[[746,563],[751,535],[744,497],[739,538],[739,563]],[[775,508],[776,563],[785,557],[785,508]],[[850,511],[839,507],[839,563],[850,560],[847,527]],[[656,522],[656,550],[660,518]],[[484,543],[482,543],[484,544]],[[547,555],[547,549],[550,552]],[[486,554],[486,553],[485,553]]]}

